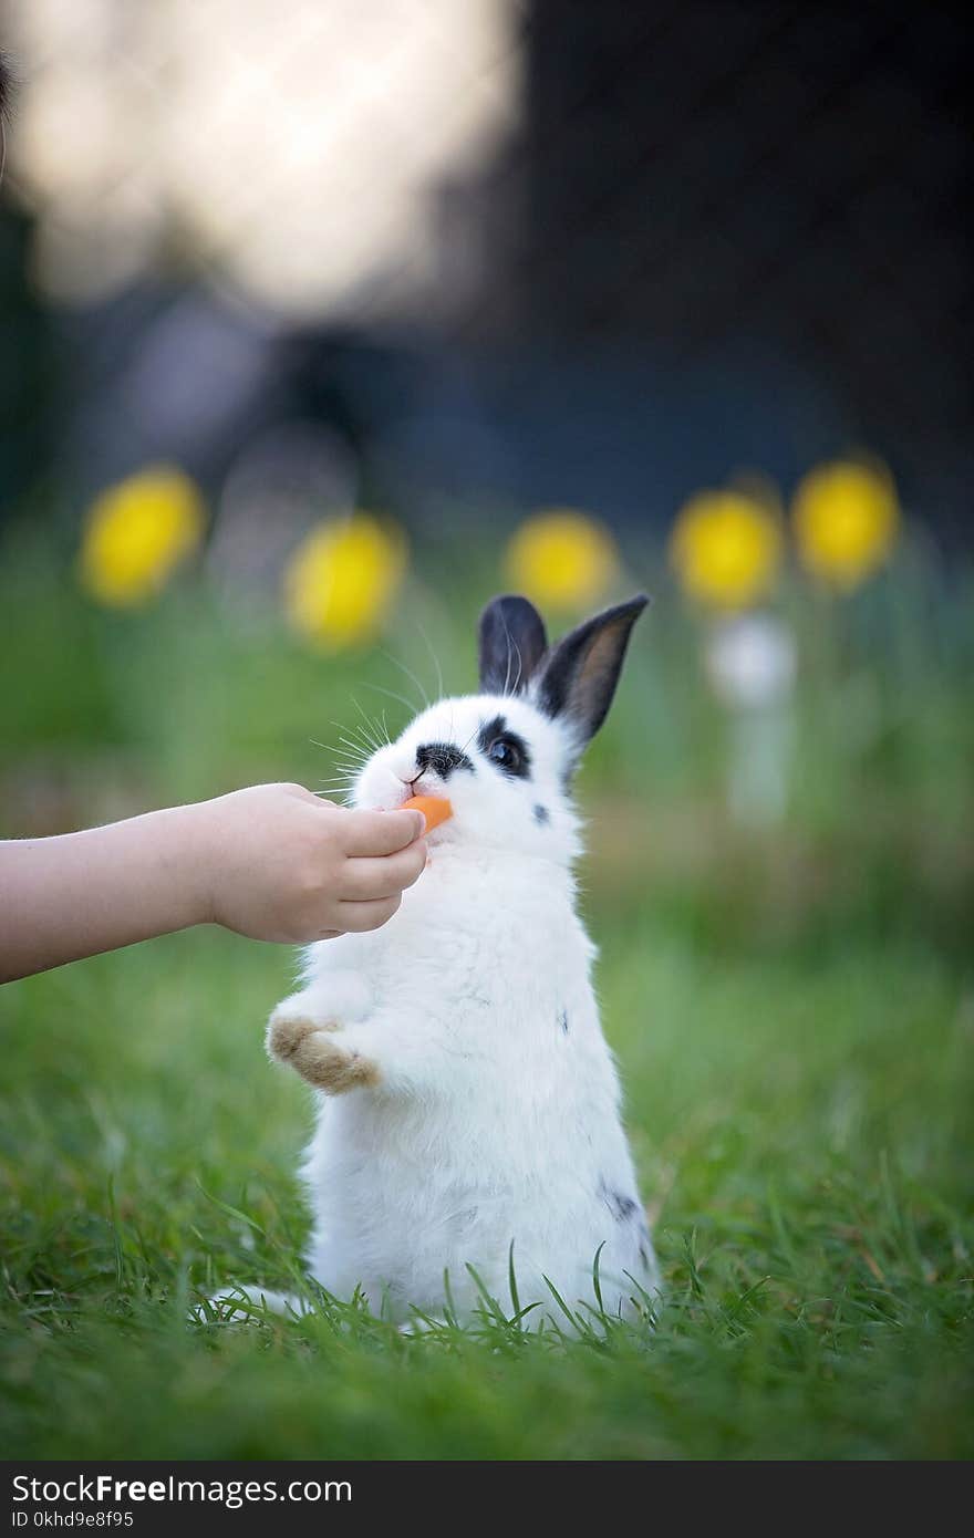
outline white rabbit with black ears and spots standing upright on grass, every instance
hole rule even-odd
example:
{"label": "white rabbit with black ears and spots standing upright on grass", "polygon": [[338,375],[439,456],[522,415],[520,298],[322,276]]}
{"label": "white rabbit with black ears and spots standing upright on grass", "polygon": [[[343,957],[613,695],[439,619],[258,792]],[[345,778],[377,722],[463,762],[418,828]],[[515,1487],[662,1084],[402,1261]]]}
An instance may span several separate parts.
{"label": "white rabbit with black ears and spots standing upright on grass", "polygon": [[[482,694],[442,700],[365,764],[354,801],[448,795],[431,864],[371,934],[311,946],[268,1047],[320,1094],[305,1175],[311,1275],[374,1309],[479,1306],[472,1267],[526,1323],[632,1310],[655,1260],[575,912],[571,775],[605,720],[632,598],[548,649],[537,611],[480,621]],[[514,1246],[511,1252],[511,1246]],[[548,1278],[548,1280],[546,1280]],[[635,1286],[637,1284],[637,1286]]]}

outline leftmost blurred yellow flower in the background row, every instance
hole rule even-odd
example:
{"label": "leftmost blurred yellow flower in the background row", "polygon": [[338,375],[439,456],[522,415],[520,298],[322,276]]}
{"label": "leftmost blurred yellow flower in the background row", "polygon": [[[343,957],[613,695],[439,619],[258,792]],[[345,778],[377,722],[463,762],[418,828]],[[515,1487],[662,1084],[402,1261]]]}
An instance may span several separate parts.
{"label": "leftmost blurred yellow flower in the background row", "polygon": [[203,500],[169,464],[152,464],[92,503],[78,558],[82,583],[102,603],[152,598],[203,537]]}

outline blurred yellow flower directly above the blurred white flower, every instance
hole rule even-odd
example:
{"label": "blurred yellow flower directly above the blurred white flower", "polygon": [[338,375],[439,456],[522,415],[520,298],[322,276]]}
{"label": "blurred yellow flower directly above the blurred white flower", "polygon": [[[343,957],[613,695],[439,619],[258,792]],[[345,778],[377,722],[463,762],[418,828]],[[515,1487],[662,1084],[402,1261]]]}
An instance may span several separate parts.
{"label": "blurred yellow flower directly above the blurred white flower", "polygon": [[705,491],[677,514],[669,558],[686,592],[717,609],[748,609],[774,586],[782,526],[743,491]]}

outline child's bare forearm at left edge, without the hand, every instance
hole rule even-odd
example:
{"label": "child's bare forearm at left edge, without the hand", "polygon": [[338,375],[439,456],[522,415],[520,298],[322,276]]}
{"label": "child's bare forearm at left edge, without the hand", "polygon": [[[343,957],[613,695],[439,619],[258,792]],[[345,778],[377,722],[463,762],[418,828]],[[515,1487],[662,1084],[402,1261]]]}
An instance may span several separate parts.
{"label": "child's bare forearm at left edge, without the hand", "polygon": [[205,923],[198,812],[0,844],[0,981]]}

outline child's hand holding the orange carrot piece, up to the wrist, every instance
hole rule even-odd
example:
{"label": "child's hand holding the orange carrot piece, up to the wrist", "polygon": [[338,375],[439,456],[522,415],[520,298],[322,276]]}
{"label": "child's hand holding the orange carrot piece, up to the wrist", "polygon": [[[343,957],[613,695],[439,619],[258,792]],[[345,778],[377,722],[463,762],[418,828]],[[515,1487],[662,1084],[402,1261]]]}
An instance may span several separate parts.
{"label": "child's hand holding the orange carrot piece, up to the wrist", "polygon": [[300,784],[257,784],[186,811],[206,917],[251,940],[379,929],[426,864],[422,812],[348,811]]}

